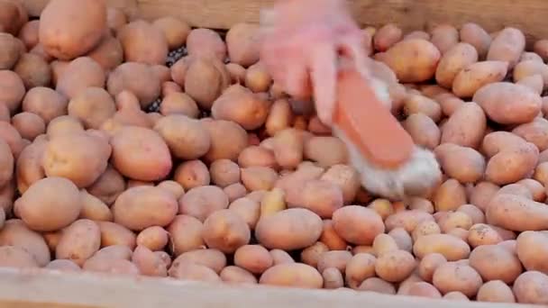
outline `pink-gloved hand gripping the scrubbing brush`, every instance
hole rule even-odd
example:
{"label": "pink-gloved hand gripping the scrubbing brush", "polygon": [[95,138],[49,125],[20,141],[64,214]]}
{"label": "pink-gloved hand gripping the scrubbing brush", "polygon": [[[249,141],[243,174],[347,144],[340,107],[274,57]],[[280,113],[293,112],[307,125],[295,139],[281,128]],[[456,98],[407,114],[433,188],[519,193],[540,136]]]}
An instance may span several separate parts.
{"label": "pink-gloved hand gripping the scrubbing brush", "polygon": [[363,32],[346,2],[279,0],[261,17],[261,62],[288,95],[297,99],[313,95],[318,117],[331,125],[339,57],[366,68]]}

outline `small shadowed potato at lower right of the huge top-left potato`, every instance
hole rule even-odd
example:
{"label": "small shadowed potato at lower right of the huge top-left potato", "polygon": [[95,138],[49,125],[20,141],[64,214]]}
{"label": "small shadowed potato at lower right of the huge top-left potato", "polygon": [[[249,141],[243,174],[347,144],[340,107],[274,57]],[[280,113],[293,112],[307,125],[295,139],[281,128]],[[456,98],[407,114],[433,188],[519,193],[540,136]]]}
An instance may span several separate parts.
{"label": "small shadowed potato at lower right of the huge top-left potato", "polygon": [[87,57],[94,59],[105,72],[111,71],[123,62],[122,43],[112,35],[104,35]]}

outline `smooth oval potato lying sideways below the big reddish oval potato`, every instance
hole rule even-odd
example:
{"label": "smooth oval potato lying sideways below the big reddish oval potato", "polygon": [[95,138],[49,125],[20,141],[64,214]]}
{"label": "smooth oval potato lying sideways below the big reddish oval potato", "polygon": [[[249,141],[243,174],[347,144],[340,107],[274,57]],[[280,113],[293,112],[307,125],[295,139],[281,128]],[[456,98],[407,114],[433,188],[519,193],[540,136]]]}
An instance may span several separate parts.
{"label": "smooth oval potato lying sideways below the big reddish oval potato", "polygon": [[133,231],[169,225],[178,212],[175,196],[159,187],[135,186],[118,196],[113,205],[114,222]]}

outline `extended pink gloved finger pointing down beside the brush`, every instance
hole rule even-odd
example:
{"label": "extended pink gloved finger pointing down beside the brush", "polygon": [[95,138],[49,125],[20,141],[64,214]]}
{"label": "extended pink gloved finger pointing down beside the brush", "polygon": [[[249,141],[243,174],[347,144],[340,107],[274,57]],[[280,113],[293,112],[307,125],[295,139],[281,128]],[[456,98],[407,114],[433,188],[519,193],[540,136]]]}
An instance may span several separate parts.
{"label": "extended pink gloved finger pointing down beside the brush", "polygon": [[336,104],[337,52],[331,45],[315,48],[312,53],[310,77],[314,88],[318,118],[331,125]]}

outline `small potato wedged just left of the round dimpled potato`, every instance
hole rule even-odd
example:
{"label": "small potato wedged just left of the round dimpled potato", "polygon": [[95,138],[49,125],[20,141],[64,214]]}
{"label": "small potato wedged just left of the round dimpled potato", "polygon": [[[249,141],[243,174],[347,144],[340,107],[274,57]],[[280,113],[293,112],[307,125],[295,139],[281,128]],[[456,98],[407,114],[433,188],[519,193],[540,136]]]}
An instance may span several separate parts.
{"label": "small potato wedged just left of the round dimpled potato", "polygon": [[188,215],[177,215],[166,230],[169,232],[169,247],[175,256],[194,249],[205,248],[202,239],[204,225]]}

